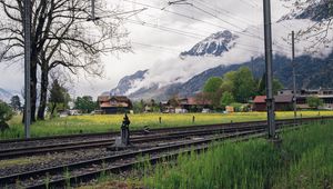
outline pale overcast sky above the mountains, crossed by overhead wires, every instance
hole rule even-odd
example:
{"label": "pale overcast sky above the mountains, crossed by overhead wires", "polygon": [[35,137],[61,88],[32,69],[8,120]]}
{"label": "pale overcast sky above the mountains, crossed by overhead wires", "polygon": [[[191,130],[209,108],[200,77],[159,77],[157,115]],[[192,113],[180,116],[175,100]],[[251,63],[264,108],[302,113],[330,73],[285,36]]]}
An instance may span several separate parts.
{"label": "pale overcast sky above the mountains, crossed by overhead wires", "polygon": [[[254,32],[262,29],[262,0],[188,0],[188,2],[168,6],[167,0],[112,0],[112,3],[117,3],[124,11],[148,8],[130,17],[124,23],[130,32],[133,52],[104,56],[102,61],[105,63],[105,77],[100,79],[75,77],[74,83],[69,84],[71,93],[97,97],[114,88],[122,77],[176,58],[181,51],[189,50],[211,33],[225,29],[238,32],[249,27],[252,27]],[[279,0],[272,0],[273,21],[287,12],[289,9]],[[173,32],[142,26],[140,22],[173,29]],[[178,30],[182,31],[182,34],[174,32]],[[192,34],[184,36],[183,32]],[[22,62],[10,67],[1,63],[0,70],[0,88],[17,91],[23,88]]]}

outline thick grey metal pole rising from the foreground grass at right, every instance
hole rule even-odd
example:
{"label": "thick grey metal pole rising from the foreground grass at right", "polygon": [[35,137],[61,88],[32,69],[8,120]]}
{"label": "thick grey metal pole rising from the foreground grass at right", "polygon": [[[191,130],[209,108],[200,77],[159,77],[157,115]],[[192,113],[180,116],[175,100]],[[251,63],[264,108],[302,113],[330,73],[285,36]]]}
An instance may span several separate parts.
{"label": "thick grey metal pole rising from the foreground grass at right", "polygon": [[266,69],[266,108],[269,123],[269,139],[275,139],[275,115],[273,97],[272,70],[272,28],[271,28],[271,0],[263,0],[264,10],[264,41],[265,41],[265,69]]}

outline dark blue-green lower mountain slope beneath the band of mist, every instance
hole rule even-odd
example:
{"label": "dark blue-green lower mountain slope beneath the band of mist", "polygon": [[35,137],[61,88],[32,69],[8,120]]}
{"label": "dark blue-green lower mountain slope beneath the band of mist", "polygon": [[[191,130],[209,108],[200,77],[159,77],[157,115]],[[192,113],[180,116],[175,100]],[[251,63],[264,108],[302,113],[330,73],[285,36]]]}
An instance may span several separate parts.
{"label": "dark blue-green lower mountain slope beneath the band of mist", "polygon": [[[326,59],[312,58],[310,56],[301,56],[295,59],[296,62],[296,86],[297,88],[317,89],[333,87],[333,53]],[[285,88],[292,88],[292,64],[289,58],[283,56],[274,56],[273,74]],[[219,66],[203,71],[194,76],[189,81],[178,86],[180,96],[192,96],[202,89],[204,82],[210,77],[221,77],[229,71],[235,71],[240,67],[249,67],[254,77],[260,79],[264,73],[264,58],[256,58],[241,64]]]}

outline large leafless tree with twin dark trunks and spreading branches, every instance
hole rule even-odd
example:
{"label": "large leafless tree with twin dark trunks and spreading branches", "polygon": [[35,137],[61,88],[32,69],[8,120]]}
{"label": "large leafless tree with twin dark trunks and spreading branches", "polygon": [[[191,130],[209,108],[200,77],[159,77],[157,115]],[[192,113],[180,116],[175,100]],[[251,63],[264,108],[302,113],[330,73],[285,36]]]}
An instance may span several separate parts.
{"label": "large leafless tree with twin dark trunks and spreading branches", "polygon": [[[4,17],[0,20],[0,60],[16,62],[23,56],[23,0],[0,0]],[[102,53],[128,51],[128,36],[122,28],[121,10],[107,8],[107,0],[98,0],[91,20],[91,0],[31,0],[31,111],[36,120],[37,70],[40,66],[39,119],[44,119],[49,73],[63,67],[73,74],[80,70],[102,76]]]}

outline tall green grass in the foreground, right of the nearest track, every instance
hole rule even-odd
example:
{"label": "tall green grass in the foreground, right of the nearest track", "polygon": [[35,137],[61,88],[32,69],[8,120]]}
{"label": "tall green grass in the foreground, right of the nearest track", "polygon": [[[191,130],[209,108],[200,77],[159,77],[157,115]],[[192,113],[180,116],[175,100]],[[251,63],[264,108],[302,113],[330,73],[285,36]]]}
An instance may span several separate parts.
{"label": "tall green grass in the foreground, right of the nearest track", "polygon": [[[226,143],[145,170],[143,186],[175,188],[332,188],[333,122],[281,135],[278,149],[264,139]],[[149,169],[150,166],[147,166]]]}

